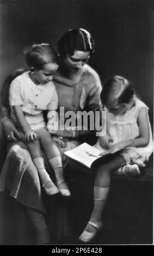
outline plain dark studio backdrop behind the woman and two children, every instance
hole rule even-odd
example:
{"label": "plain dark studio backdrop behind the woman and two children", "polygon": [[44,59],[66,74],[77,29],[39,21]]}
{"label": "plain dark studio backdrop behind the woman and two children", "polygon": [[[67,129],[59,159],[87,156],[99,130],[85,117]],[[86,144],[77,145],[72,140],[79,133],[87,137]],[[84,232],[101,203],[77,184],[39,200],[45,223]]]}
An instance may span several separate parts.
{"label": "plain dark studio backdrop behind the woman and two children", "polygon": [[[152,0],[0,0],[0,90],[10,72],[26,67],[22,52],[26,46],[48,42],[57,47],[63,33],[76,27],[87,29],[95,39],[89,64],[102,83],[113,75],[132,80],[150,108],[153,124]],[[0,125],[0,171],[4,148]],[[142,205],[141,196],[138,200]]]}

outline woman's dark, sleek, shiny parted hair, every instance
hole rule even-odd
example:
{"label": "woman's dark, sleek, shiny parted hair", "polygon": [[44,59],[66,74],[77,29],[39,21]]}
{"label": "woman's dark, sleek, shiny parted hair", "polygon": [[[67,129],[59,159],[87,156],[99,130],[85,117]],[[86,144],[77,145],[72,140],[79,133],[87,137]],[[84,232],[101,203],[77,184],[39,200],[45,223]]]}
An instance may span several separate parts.
{"label": "woman's dark, sleek, shiny parted hair", "polygon": [[94,52],[94,39],[91,34],[83,28],[70,29],[58,42],[58,52],[61,57],[65,57],[66,54],[72,56],[75,50],[90,52],[90,56]]}

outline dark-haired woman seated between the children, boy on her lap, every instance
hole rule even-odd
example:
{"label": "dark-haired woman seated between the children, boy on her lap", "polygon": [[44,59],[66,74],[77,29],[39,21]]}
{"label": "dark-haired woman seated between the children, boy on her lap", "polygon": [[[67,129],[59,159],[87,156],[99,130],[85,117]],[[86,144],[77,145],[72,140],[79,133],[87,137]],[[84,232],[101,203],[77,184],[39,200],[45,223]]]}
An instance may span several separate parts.
{"label": "dark-haired woman seated between the children, boy on her lap", "polygon": [[[97,73],[87,64],[94,52],[94,40],[85,29],[71,29],[58,42],[59,68],[53,75],[53,83],[58,94],[60,107],[67,111],[99,111],[101,82]],[[21,73],[20,73],[21,74]],[[17,75],[17,74],[16,74]],[[15,75],[15,76],[16,76]],[[10,118],[9,86],[15,77],[9,77],[2,90],[1,120],[8,138],[8,155],[5,160],[0,180],[0,191],[8,190],[10,196],[26,207],[32,221],[37,243],[49,242],[48,228],[45,222],[46,213],[42,202],[42,191],[38,171],[27,150],[26,144],[20,141],[20,133],[16,130]],[[61,117],[59,117],[61,119]],[[68,118],[65,118],[66,121]],[[77,129],[52,131],[54,140],[59,145],[61,153],[77,147],[83,141],[89,142],[93,131]],[[63,155],[62,155],[63,156]],[[66,163],[65,158],[63,159]]]}

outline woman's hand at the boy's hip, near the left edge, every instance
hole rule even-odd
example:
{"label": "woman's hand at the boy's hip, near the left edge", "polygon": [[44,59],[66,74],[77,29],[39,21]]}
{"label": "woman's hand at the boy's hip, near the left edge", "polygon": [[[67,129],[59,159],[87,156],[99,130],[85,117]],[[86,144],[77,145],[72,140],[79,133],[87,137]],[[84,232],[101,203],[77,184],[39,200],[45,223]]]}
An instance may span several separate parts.
{"label": "woman's hand at the boy's hip, near the left edge", "polygon": [[8,118],[2,121],[5,133],[9,141],[17,141],[21,139],[19,131],[17,131],[13,121]]}

